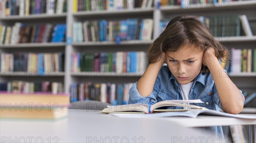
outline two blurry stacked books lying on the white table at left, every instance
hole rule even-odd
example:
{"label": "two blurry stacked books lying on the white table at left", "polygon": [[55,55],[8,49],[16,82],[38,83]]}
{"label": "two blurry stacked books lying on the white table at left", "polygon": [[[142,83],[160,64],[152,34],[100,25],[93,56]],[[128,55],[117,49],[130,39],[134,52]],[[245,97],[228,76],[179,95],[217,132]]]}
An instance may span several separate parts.
{"label": "two blurry stacked books lying on the white table at left", "polygon": [[0,118],[60,119],[68,115],[69,93],[0,92]]}

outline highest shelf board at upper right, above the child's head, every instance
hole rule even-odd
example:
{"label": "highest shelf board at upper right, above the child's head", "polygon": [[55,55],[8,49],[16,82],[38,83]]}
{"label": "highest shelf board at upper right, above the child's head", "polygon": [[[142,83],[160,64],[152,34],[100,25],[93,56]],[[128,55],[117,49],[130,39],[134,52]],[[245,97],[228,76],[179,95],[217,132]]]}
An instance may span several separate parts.
{"label": "highest shelf board at upper right, above the child's head", "polygon": [[230,2],[226,1],[224,3],[217,3],[215,6],[212,3],[197,3],[197,4],[189,4],[187,7],[181,8],[180,6],[162,6],[160,7],[160,11],[164,13],[168,12],[189,12],[189,11],[211,11],[215,10],[230,10],[231,8],[255,8],[256,1],[255,0],[243,0]]}

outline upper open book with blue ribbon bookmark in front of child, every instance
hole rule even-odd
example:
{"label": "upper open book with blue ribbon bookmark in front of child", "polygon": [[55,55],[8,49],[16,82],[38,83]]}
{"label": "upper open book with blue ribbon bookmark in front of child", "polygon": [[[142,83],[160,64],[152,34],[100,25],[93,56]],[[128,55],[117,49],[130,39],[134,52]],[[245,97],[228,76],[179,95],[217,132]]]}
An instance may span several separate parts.
{"label": "upper open book with blue ribbon bookmark in front of child", "polygon": [[[168,100],[160,101],[153,105],[151,104],[125,104],[117,106],[108,106],[103,109],[102,113],[154,113],[154,112],[175,112],[175,111],[187,111],[189,109],[202,109],[196,105],[189,103],[204,103],[200,99],[196,100]],[[181,109],[163,109],[168,107],[182,107]]]}

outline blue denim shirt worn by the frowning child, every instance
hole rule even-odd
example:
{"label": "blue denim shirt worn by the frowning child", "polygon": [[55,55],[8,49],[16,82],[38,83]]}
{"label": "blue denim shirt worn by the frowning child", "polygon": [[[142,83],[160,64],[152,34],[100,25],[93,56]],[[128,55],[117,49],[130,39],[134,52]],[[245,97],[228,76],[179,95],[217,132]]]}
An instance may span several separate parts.
{"label": "blue denim shirt worn by the frowning child", "polygon": [[[227,73],[227,71],[225,70]],[[240,90],[241,92],[241,90]],[[244,98],[244,95],[242,95]],[[160,102],[165,100],[182,100],[180,84],[172,75],[169,68],[163,65],[157,75],[157,79],[154,84],[153,92],[147,97],[143,97],[137,90],[137,82],[135,82],[129,91],[128,104]],[[206,107],[208,109],[220,111],[221,101],[218,96],[217,88],[210,73],[198,74],[195,78],[190,90],[189,100],[201,99],[204,103],[195,103],[194,105]],[[225,106],[223,106],[225,108]],[[172,107],[171,109],[177,109],[180,107]],[[222,109],[223,110],[223,109]],[[221,126],[205,127],[218,138],[221,137],[224,140],[223,131]]]}

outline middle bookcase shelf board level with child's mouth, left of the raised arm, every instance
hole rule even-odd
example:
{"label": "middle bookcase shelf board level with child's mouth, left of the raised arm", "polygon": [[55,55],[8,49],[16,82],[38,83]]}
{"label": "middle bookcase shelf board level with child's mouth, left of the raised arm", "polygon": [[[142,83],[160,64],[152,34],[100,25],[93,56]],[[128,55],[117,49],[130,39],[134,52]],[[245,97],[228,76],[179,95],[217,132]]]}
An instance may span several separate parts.
{"label": "middle bookcase shelf board level with child's mouth, left of the raised arm", "polygon": [[71,73],[71,76],[90,76],[90,77],[140,77],[143,73],[115,73],[115,72],[80,72]]}

